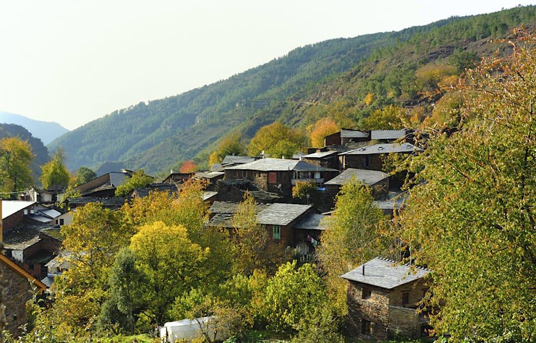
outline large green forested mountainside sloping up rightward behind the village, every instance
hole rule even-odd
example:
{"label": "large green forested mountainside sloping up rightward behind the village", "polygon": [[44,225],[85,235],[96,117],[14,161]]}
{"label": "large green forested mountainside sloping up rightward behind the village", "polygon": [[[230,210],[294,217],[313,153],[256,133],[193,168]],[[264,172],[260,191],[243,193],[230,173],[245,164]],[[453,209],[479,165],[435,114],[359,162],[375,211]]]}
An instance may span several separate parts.
{"label": "large green forested mountainside sloping up rightward behind the village", "polygon": [[330,106],[348,109],[359,123],[387,104],[429,105],[434,98],[423,97],[416,82],[419,67],[445,63],[461,69],[467,54],[506,46],[490,39],[535,21],[536,7],[516,7],[307,45],[227,80],[115,111],[49,148],[64,147],[70,169],[110,161],[154,173],[184,159],[206,161],[213,144],[233,129],[252,136],[274,120],[305,126]]}

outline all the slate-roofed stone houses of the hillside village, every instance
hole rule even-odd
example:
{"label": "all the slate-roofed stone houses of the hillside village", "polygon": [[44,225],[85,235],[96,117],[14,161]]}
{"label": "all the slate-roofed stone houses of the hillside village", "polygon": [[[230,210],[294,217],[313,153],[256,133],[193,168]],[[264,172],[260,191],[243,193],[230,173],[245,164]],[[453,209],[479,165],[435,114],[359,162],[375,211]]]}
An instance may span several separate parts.
{"label": "all the slate-roofed stone houses of the hillside village", "polygon": [[[203,199],[211,206],[206,225],[233,230],[232,218],[249,192],[257,202],[258,224],[274,241],[296,249],[302,261],[313,259],[322,244],[324,219],[331,215],[336,195],[348,180],[355,178],[370,186],[376,205],[386,215],[403,208],[405,194],[400,187],[405,175],[390,173],[385,157],[419,153],[413,132],[341,129],[324,142],[324,147],[291,159],[226,156],[210,171],[172,170],[161,182],[134,189],[126,197],[115,196],[115,189],[132,177],[132,171],[124,169],[79,185],[76,190],[81,197],[63,199],[60,191],[34,188],[18,200],[3,200],[0,264],[8,275],[8,329],[16,333],[25,322],[24,303],[31,296],[27,281],[40,293],[47,292],[54,277],[69,268],[61,258],[69,251],[61,248],[59,229],[71,224],[73,211],[90,202],[117,210],[125,201],[153,191],[173,194],[185,181],[200,179],[206,181]],[[293,187],[303,181],[314,184],[314,189],[303,199],[295,199]],[[58,201],[66,206],[57,207]],[[348,280],[349,333],[365,339],[386,339],[397,332],[410,337],[424,334],[428,321],[419,314],[417,304],[426,294],[428,272],[377,257],[341,276]]]}

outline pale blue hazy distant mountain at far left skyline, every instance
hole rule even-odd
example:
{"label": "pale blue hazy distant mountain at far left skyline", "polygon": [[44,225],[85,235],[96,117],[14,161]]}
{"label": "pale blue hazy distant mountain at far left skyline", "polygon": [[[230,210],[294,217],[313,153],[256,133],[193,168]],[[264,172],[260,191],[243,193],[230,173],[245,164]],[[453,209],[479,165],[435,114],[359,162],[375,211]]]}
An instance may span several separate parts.
{"label": "pale blue hazy distant mountain at far left skyline", "polygon": [[2,111],[0,111],[0,124],[1,123],[24,126],[34,137],[39,138],[45,145],[62,134],[69,132],[68,129],[58,123],[54,123],[54,121],[34,120]]}

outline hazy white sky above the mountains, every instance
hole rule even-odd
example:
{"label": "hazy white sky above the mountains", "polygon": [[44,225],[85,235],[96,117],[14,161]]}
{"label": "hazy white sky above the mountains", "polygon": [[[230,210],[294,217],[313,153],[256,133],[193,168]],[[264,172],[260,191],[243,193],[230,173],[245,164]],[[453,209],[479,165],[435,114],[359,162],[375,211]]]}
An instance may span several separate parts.
{"label": "hazy white sky above the mountains", "polygon": [[73,129],[304,44],[530,3],[0,0],[0,111]]}

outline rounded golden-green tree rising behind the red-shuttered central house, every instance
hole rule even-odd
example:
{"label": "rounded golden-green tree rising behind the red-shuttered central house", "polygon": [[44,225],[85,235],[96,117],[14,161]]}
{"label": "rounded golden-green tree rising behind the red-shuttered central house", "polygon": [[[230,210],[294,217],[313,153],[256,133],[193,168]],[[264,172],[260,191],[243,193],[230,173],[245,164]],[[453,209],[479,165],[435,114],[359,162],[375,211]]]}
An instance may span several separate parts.
{"label": "rounded golden-green tree rising behind the red-shuttered central house", "polygon": [[248,146],[250,155],[265,154],[281,158],[291,158],[307,144],[306,135],[299,129],[291,128],[276,121],[259,128]]}

